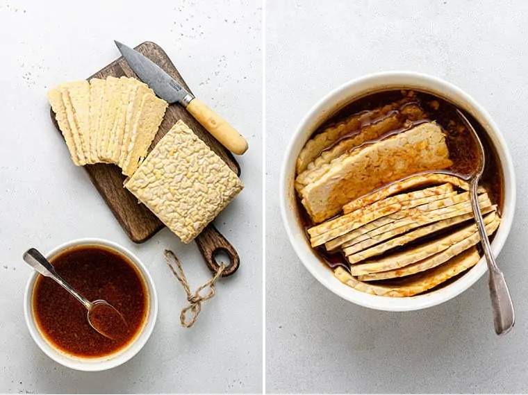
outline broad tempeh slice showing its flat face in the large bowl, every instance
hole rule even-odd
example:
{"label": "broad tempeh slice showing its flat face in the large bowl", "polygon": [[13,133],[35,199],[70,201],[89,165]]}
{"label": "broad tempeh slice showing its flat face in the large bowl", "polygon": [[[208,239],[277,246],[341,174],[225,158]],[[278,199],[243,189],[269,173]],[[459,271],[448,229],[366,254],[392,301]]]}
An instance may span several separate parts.
{"label": "broad tempeh slice showing its flat face in the large bowl", "polygon": [[302,204],[315,223],[322,222],[338,214],[347,202],[380,185],[451,165],[440,127],[421,124],[333,160],[324,176],[302,190]]}

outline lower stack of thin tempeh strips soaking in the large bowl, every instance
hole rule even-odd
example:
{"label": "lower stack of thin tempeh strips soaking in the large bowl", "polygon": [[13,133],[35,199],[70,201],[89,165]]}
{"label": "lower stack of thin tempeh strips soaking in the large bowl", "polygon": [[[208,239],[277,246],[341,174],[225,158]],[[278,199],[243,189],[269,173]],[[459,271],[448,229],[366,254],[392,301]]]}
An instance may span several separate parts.
{"label": "lower stack of thin tempeh strips soaking in the large bowl", "polygon": [[[338,267],[334,274],[351,287],[383,296],[419,294],[479,261],[467,191],[454,176],[411,176],[348,203],[343,215],[308,229],[310,241],[346,255],[350,272]],[[484,187],[479,205],[493,235],[500,216]]]}

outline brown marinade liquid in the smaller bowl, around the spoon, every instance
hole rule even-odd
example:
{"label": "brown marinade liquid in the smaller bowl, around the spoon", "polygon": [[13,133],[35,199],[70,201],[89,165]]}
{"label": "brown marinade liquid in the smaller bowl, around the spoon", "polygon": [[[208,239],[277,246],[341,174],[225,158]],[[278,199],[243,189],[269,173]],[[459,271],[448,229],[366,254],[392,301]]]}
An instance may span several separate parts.
{"label": "brown marinade liquid in the smaller bowl, around the spoon", "polygon": [[[44,336],[66,353],[98,358],[124,348],[138,333],[147,314],[147,291],[128,259],[99,246],[68,249],[51,260],[56,271],[88,300],[104,299],[126,320],[115,340],[97,333],[87,310],[51,278],[39,276],[33,312]],[[102,317],[101,319],[104,319]]]}

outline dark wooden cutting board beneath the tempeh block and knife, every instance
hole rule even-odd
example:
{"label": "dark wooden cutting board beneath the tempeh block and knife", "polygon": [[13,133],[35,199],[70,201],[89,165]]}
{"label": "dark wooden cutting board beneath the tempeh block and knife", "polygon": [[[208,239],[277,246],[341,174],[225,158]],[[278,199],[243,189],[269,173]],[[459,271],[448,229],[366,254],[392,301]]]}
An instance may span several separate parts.
{"label": "dark wooden cutting board beneath the tempeh block and knife", "polygon": [[[185,87],[188,92],[191,92],[188,85],[179,74],[176,67],[167,56],[167,53],[163,51],[154,42],[143,42],[135,47],[137,51],[140,51],[143,55],[147,56],[150,60],[158,64],[162,69],[165,70],[172,78],[178,83]],[[117,49],[116,49],[117,51]],[[110,65],[104,67],[99,72],[90,76],[90,78],[106,78],[106,76],[127,76],[138,78],[131,70],[129,65],[126,63],[124,58],[118,58]],[[138,78],[139,79],[139,78]],[[51,119],[55,124],[58,131],[58,124],[55,119],[55,114],[51,112]],[[196,121],[192,115],[190,115],[185,108],[179,106],[179,104],[172,104],[167,108],[165,117],[160,125],[154,142],[152,143],[150,150],[160,141],[160,139],[167,133],[170,128],[178,121],[182,119],[185,124],[188,124],[190,128],[201,138],[204,142],[217,153],[224,162],[240,176],[240,166],[236,162],[233,155],[227,151],[222,144],[211,136],[198,121]],[[123,187],[123,181],[126,176],[121,174],[119,167],[115,165],[97,164],[97,165],[85,165],[84,168],[88,171],[88,175],[92,180],[92,183],[99,191],[99,194],[103,197],[104,201],[113,212],[113,215],[119,221],[123,230],[129,235],[130,239],[135,243],[145,242],[147,239],[155,235],[158,230],[163,228],[162,222],[143,204],[138,204],[138,199],[133,196],[128,190]],[[223,239],[223,242],[222,242]],[[218,249],[228,253],[231,260],[233,260],[233,253],[238,259],[238,254],[233,249],[231,244],[218,233],[216,228],[209,224],[197,237],[197,244],[202,252],[213,255]],[[204,251],[206,250],[206,251]],[[205,255],[204,255],[205,257]],[[207,260],[207,259],[206,259]],[[209,264],[209,262],[208,262]],[[233,262],[231,262],[233,264]],[[238,267],[238,264],[237,264]],[[211,268],[213,269],[213,268]],[[234,271],[233,271],[234,272]]]}

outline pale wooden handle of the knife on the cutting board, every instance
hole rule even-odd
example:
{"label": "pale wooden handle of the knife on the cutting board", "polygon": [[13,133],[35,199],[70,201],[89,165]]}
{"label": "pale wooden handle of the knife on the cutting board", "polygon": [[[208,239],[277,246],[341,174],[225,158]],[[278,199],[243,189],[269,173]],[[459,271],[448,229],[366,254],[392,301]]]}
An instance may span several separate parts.
{"label": "pale wooden handle of the knife on the cutting board", "polygon": [[247,151],[245,138],[236,131],[236,128],[233,128],[224,118],[220,117],[211,108],[208,108],[202,101],[192,99],[187,106],[187,110],[226,149],[236,155],[242,155],[242,153]]}

